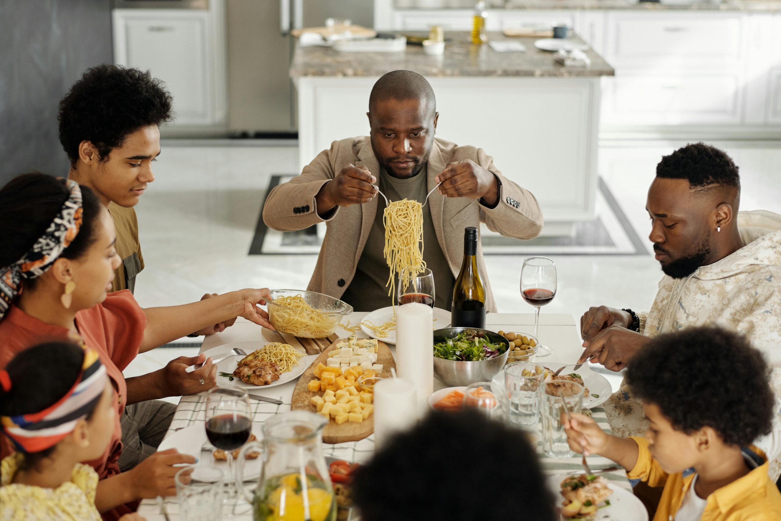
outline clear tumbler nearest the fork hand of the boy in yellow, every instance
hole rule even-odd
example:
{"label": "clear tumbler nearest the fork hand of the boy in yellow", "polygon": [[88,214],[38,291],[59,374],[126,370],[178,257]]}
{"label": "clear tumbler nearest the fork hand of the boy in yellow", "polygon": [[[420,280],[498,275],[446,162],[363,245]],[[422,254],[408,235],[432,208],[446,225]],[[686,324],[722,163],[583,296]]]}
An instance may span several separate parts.
{"label": "clear tumbler nearest the fork hand of the boy in yellow", "polygon": [[571,458],[575,455],[569,449],[567,434],[562,425],[564,407],[569,413],[580,413],[583,409],[583,385],[574,381],[557,380],[543,386],[540,401],[542,414],[542,449],[549,458]]}

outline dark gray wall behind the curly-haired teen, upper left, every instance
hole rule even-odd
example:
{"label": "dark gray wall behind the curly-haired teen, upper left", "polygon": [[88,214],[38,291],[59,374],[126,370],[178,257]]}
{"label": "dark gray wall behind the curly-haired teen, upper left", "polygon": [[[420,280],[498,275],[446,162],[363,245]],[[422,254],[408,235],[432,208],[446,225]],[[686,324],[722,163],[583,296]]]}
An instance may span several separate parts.
{"label": "dark gray wall behind the curly-haired teen, upper left", "polygon": [[67,172],[57,104],[84,69],[112,61],[110,0],[0,0],[0,185]]}

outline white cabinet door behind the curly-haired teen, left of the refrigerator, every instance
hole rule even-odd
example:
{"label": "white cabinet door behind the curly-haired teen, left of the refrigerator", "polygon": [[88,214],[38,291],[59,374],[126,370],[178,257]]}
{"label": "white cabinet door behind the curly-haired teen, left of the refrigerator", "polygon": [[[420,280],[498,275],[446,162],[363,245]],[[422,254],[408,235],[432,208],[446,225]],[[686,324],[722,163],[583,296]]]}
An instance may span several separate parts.
{"label": "white cabinet door behind the curly-haired teen, left of the refrigerator", "polygon": [[115,10],[115,62],[148,69],[173,96],[177,125],[209,125],[212,63],[208,13]]}

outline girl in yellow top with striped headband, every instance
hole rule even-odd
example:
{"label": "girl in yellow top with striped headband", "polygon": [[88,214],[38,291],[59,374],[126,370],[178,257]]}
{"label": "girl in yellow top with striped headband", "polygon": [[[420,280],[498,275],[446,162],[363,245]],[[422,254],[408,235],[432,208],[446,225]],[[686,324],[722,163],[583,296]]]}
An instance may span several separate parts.
{"label": "girl in yellow top with striped headband", "polygon": [[[0,521],[100,521],[99,458],[114,428],[113,389],[98,354],[69,342],[26,349],[0,370],[0,426],[16,445],[0,464]],[[137,514],[120,521],[143,520]]]}

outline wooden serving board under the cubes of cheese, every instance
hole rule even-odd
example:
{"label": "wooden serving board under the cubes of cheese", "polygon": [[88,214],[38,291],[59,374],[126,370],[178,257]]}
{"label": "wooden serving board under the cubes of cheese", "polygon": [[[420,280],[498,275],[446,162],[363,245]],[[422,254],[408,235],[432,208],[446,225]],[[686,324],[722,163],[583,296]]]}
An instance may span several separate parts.
{"label": "wooden serving board under the cubes of cheese", "polygon": [[[317,412],[316,407],[312,405],[312,396],[322,396],[323,392],[311,392],[308,390],[307,385],[309,381],[315,377],[317,364],[323,363],[323,365],[326,365],[328,362],[328,352],[334,349],[338,342],[342,341],[346,342],[347,338],[337,338],[337,340],[332,342],[314,362],[309,364],[309,367],[304,371],[304,374],[301,374],[293,391],[291,409],[305,410],[312,413]],[[383,342],[377,342],[377,363],[383,364],[383,374],[385,375],[391,374],[391,367],[394,369],[396,368],[396,361],[393,359],[391,349],[388,349],[388,346],[383,344]],[[323,441],[325,443],[359,441],[368,437],[373,432],[374,414],[366,418],[366,420],[363,420],[360,424],[345,422],[344,424],[337,425],[333,420],[329,420],[328,425],[323,429]]]}

